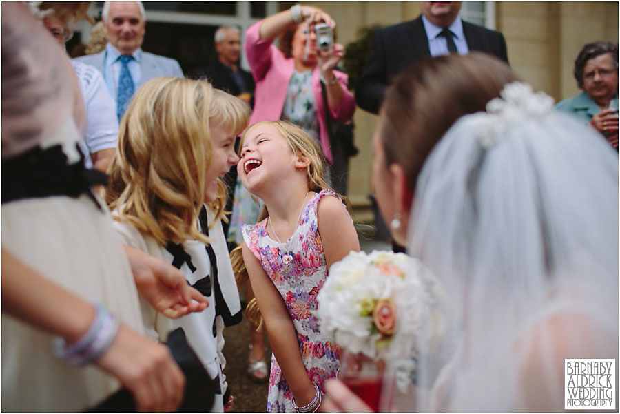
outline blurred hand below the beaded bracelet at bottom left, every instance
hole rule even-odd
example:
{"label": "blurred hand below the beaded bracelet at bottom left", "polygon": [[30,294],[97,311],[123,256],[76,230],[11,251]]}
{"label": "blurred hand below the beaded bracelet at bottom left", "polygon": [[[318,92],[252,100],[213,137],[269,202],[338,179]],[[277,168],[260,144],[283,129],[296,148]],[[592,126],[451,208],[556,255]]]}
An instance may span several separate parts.
{"label": "blurred hand below the beaded bracelet at bottom left", "polygon": [[122,324],[96,365],[131,391],[137,411],[176,411],[183,400],[185,377],[166,346]]}

